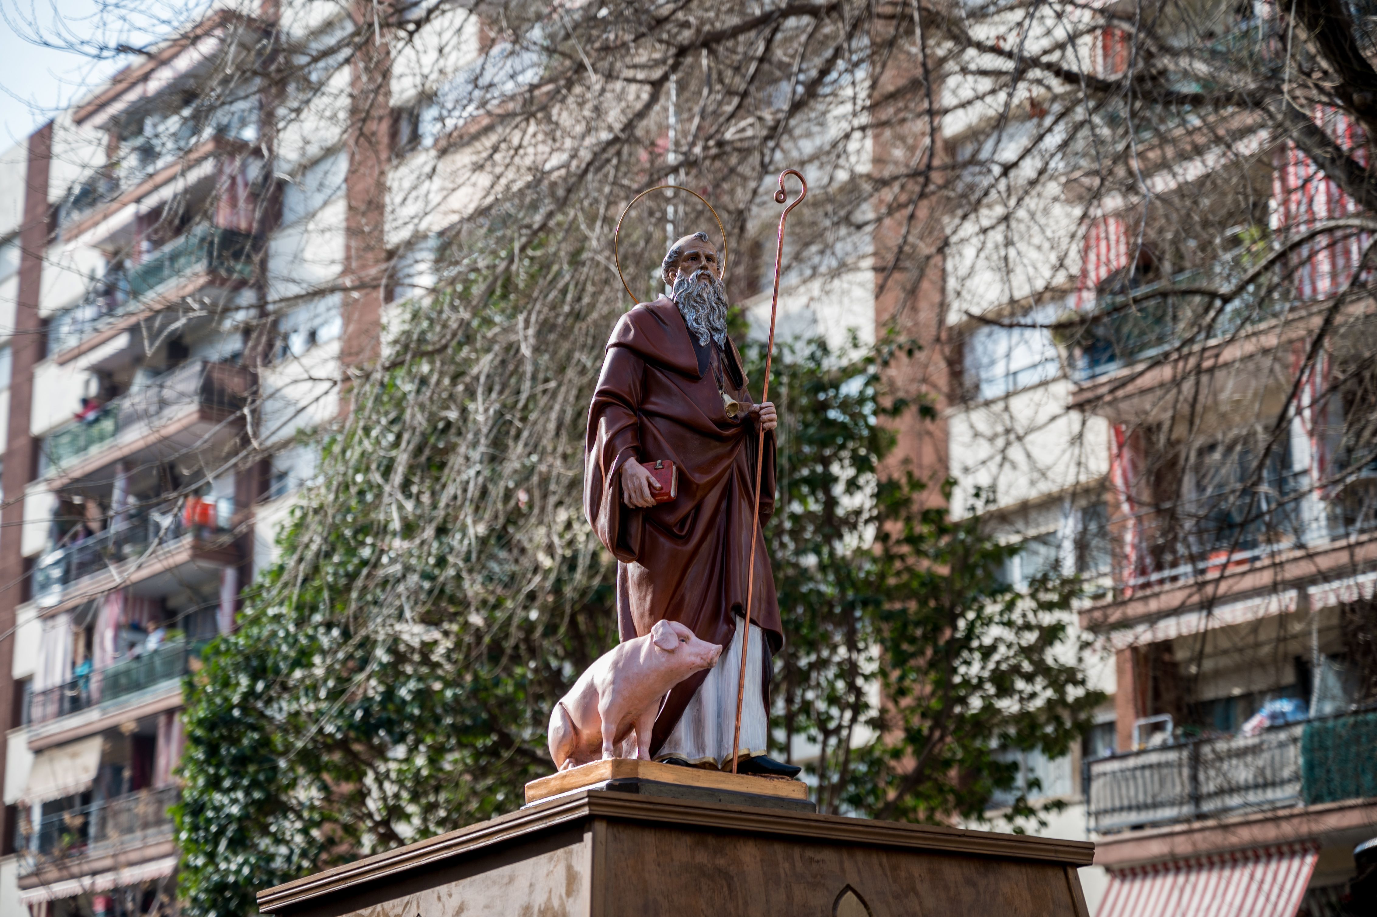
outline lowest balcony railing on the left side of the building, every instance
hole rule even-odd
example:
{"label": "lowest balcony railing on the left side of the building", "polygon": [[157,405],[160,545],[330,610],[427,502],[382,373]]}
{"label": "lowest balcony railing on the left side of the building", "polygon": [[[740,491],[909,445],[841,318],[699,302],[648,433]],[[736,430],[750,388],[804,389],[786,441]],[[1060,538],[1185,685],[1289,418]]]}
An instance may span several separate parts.
{"label": "lowest balcony railing on the left side of the building", "polygon": [[176,786],[164,786],[44,815],[26,836],[21,832],[21,850],[41,863],[145,844],[172,832],[168,810],[178,794]]}

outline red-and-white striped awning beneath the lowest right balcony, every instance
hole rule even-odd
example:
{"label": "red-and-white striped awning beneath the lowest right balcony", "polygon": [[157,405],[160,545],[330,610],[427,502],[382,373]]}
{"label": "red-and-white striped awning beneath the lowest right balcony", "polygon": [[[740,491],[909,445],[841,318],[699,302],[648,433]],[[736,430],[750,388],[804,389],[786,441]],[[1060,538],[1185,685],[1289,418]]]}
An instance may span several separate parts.
{"label": "red-and-white striped awning beneath the lowest right balcony", "polygon": [[1096,917],[1296,917],[1318,856],[1286,844],[1111,870]]}

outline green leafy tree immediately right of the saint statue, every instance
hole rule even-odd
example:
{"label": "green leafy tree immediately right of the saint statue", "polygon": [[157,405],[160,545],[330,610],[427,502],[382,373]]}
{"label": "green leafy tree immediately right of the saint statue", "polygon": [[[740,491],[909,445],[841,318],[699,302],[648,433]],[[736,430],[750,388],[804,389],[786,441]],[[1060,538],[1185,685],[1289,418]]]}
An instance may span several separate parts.
{"label": "green leafy tree immediately right of the saint statue", "polygon": [[[923,486],[887,461],[887,421],[932,417],[885,397],[899,347],[852,343],[844,358],[811,341],[774,363],[784,511],[768,534],[786,629],[775,732],[806,756],[822,811],[979,818],[1015,786],[1001,750],[1064,755],[1103,698],[1081,666],[1078,581],[1047,573],[1013,588],[1002,574],[1016,548],[975,516],[953,519],[945,500],[923,507]],[[1038,815],[1020,793],[1013,821]]]}

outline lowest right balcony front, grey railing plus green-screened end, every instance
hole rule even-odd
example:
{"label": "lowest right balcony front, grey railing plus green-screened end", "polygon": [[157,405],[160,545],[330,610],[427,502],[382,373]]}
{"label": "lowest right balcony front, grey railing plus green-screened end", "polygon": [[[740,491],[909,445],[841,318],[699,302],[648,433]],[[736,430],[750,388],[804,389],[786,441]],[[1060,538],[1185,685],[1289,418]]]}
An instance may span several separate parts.
{"label": "lowest right balcony front, grey railing plus green-screened end", "polygon": [[1374,742],[1369,710],[1089,761],[1086,818],[1107,833],[1374,796]]}

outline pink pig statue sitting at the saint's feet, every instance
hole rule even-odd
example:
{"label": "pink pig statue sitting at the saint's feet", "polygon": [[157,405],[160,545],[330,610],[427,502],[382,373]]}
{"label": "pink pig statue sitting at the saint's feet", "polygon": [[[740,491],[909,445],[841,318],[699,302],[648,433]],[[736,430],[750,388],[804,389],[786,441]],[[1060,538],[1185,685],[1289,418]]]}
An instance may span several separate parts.
{"label": "pink pig statue sitting at the saint's feet", "polygon": [[650,730],[669,688],[717,664],[722,647],[677,621],[598,657],[549,715],[549,756],[567,770],[606,757],[635,730],[636,753],[650,759]]}

